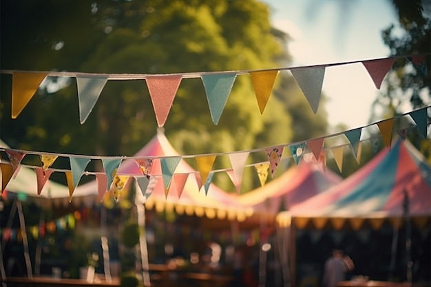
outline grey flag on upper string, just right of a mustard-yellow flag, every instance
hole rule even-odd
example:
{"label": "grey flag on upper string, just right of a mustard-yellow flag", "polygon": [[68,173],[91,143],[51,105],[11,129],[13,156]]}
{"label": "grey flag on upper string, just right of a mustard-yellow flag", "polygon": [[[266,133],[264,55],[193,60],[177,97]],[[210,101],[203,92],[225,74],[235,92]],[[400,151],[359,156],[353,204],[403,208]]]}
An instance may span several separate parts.
{"label": "grey flag on upper string, just right of a mustard-yellow flag", "polygon": [[292,69],[291,73],[296,83],[301,88],[308,103],[317,113],[320,98],[322,96],[322,85],[325,77],[325,67],[303,67]]}

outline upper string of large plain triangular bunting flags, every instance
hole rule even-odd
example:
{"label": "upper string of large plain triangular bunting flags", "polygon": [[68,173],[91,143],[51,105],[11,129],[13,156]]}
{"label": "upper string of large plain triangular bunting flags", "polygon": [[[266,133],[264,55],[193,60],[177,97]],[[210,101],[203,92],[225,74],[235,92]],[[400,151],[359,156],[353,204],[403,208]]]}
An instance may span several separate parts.
{"label": "upper string of large plain triangular bunting flags", "polygon": [[28,72],[17,70],[1,70],[2,74],[12,74],[12,118],[17,118],[30,102],[37,89],[48,76],[63,76],[76,78],[78,91],[79,120],[81,125],[90,116],[92,109],[103,91],[107,81],[145,80],[154,107],[157,124],[165,125],[169,111],[174,104],[176,92],[181,81],[185,78],[201,78],[211,119],[215,125],[222,116],[235,78],[248,74],[255,92],[255,98],[260,113],[263,114],[266,103],[271,96],[273,85],[280,72],[290,71],[297,85],[302,90],[308,104],[314,113],[319,108],[322,96],[322,85],[326,67],[362,63],[370,75],[375,87],[380,89],[383,78],[390,71],[397,58],[404,58],[414,67],[424,71],[426,69],[425,56],[392,56],[383,59],[366,61],[350,61],[344,63],[330,63],[324,65],[309,65],[303,67],[282,67],[268,70],[238,70],[227,72],[199,72],[183,74],[90,74],[78,72]]}

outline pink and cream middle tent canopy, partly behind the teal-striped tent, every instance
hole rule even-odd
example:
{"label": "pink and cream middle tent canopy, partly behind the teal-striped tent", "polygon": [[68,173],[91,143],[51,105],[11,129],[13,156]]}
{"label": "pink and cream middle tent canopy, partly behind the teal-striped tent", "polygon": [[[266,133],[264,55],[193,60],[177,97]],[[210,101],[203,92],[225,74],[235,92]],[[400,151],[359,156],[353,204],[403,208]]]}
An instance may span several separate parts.
{"label": "pink and cream middle tent canopy, partly behind the teal-striped tent", "polygon": [[255,213],[275,217],[341,180],[333,171],[322,170],[321,164],[302,160],[263,187],[240,195],[238,202],[251,207]]}

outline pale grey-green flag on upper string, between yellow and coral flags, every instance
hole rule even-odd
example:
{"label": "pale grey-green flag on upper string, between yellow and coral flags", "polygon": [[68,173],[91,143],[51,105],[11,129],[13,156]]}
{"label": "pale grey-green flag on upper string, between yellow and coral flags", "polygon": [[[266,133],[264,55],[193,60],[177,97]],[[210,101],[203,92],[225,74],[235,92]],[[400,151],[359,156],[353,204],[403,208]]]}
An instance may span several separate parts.
{"label": "pale grey-green flag on upper string, between yellow and coral flags", "polygon": [[105,87],[107,76],[77,76],[79,121],[85,123]]}

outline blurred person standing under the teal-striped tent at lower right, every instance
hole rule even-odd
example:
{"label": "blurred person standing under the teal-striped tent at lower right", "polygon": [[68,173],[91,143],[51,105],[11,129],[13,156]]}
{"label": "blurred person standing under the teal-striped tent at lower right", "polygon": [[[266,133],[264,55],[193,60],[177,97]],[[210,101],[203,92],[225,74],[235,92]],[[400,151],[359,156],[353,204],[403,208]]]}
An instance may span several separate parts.
{"label": "blurred person standing under the teal-striped tent at lower right", "polygon": [[345,279],[348,271],[353,270],[355,264],[352,259],[343,254],[343,251],[335,249],[333,255],[328,258],[324,266],[323,284],[326,287],[335,287],[339,281]]}

